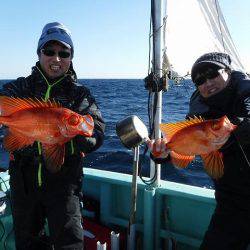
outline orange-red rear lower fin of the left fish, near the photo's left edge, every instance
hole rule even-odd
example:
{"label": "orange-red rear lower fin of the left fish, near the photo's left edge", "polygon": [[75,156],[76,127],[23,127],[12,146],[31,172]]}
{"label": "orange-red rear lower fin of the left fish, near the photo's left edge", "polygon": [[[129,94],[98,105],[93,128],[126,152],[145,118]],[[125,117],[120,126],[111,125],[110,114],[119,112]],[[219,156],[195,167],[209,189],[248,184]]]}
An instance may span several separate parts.
{"label": "orange-red rear lower fin of the left fish, near the photo's left edge", "polygon": [[33,144],[33,142],[34,141],[30,140],[30,138],[10,130],[3,139],[4,148],[9,152],[27,147]]}

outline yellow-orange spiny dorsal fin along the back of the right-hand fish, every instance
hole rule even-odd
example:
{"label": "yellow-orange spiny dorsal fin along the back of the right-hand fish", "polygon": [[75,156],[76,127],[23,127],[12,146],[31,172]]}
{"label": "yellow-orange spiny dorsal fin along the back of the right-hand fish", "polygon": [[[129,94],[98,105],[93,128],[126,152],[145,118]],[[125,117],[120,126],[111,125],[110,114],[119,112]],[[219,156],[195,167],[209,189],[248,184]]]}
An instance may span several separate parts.
{"label": "yellow-orange spiny dorsal fin along the back of the right-hand fish", "polygon": [[161,123],[160,129],[163,132],[163,134],[166,136],[168,140],[171,139],[171,137],[178,131],[180,131],[183,128],[186,128],[188,126],[199,124],[203,122],[204,119],[202,117],[194,117],[189,118],[189,120],[181,121],[181,122],[175,122],[175,123]]}

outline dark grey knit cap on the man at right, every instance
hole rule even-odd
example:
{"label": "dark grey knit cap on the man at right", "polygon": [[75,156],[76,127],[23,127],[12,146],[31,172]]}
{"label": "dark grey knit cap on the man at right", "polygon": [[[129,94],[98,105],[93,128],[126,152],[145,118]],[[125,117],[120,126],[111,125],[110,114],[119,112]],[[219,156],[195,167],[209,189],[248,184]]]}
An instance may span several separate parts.
{"label": "dark grey knit cap on the man at right", "polygon": [[220,52],[206,53],[199,57],[191,69],[191,78],[194,81],[196,75],[201,71],[213,67],[217,69],[231,69],[231,58],[228,54]]}

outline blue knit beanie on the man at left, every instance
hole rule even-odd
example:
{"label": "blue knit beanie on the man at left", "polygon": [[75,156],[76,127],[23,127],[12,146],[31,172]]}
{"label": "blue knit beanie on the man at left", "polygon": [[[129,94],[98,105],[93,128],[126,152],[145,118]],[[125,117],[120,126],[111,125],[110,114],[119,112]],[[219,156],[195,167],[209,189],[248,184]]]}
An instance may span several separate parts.
{"label": "blue knit beanie on the man at left", "polygon": [[44,26],[42,34],[38,41],[37,54],[48,41],[58,41],[67,48],[71,49],[72,57],[74,55],[74,45],[71,40],[70,31],[61,23],[53,22]]}

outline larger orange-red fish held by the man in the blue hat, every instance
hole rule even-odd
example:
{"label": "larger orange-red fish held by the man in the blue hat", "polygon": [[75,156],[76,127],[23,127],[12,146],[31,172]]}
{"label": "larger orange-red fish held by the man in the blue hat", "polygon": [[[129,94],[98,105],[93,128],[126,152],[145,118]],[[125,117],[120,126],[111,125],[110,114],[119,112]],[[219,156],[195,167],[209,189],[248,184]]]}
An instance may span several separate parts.
{"label": "larger orange-red fish held by the man in the blue hat", "polygon": [[0,96],[0,124],[8,127],[4,147],[19,150],[42,144],[46,167],[57,172],[64,162],[65,143],[76,135],[91,136],[94,121],[52,101]]}

